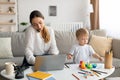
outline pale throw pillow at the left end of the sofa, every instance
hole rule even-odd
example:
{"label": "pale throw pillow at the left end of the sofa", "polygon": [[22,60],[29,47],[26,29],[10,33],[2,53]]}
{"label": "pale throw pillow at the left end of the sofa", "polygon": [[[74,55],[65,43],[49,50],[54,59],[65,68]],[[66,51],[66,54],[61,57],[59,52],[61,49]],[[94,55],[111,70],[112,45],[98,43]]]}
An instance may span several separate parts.
{"label": "pale throw pillow at the left end of the sofa", "polygon": [[0,38],[0,58],[12,58],[11,38]]}

